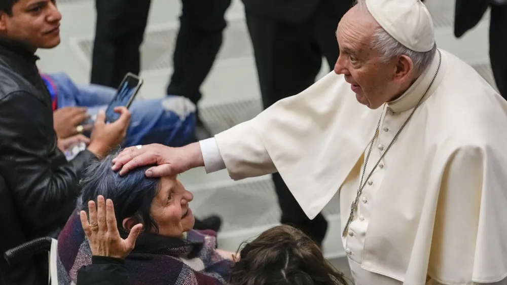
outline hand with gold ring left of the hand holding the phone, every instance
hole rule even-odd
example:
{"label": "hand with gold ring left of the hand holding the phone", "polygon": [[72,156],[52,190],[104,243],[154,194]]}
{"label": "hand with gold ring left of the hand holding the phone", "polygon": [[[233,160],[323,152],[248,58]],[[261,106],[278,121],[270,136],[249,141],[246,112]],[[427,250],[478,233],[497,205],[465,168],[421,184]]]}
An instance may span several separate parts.
{"label": "hand with gold ring left of the hand holding the phone", "polygon": [[[68,138],[92,129],[92,125],[81,124],[90,116],[86,108],[65,107],[53,113],[53,127],[58,138]],[[78,128],[78,126],[81,126]],[[82,128],[82,129],[81,129]]]}

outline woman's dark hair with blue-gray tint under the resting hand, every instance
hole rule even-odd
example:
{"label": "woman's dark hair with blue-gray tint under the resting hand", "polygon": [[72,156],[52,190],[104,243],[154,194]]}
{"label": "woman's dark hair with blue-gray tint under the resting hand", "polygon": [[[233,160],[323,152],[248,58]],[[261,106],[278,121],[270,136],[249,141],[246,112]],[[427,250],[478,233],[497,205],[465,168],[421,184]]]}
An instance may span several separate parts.
{"label": "woman's dark hair with blue-gray tint under the resting hand", "polygon": [[130,170],[120,176],[111,169],[112,160],[118,155],[113,152],[102,160],[92,160],[84,170],[80,186],[82,194],[78,202],[79,210],[88,213],[88,201],[97,203],[97,196],[113,200],[118,229],[123,228],[125,218],[134,218],[135,224],[141,223],[143,231],[158,232],[158,225],[150,215],[153,199],[160,187],[158,178],[148,178],[144,172],[150,166]]}

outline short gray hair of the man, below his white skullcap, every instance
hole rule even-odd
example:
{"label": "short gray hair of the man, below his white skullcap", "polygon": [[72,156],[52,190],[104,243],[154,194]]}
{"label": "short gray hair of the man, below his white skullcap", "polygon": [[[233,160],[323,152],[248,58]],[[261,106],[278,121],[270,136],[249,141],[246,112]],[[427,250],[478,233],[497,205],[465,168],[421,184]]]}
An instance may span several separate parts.
{"label": "short gray hair of the man, below his white skullcap", "polygon": [[[366,0],[356,0],[355,5],[359,8],[359,10],[371,15],[370,11],[368,11],[368,8],[366,7]],[[410,59],[414,62],[414,69],[417,73],[422,73],[426,70],[431,65],[431,62],[437,53],[436,43],[433,48],[427,52],[413,51],[396,41],[396,39],[394,39],[379,24],[372,38],[372,48],[381,52],[382,56],[380,60],[384,63],[388,62],[393,57],[401,55],[410,57]]]}

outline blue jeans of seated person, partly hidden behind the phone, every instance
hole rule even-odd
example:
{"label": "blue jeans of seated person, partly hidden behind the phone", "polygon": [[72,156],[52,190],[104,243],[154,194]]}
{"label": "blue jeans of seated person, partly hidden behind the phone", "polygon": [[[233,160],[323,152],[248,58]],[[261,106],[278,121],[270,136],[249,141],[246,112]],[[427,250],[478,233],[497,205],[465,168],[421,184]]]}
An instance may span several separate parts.
{"label": "blue jeans of seated person, partly hidden behind the phone", "polygon": [[[93,123],[99,110],[116,94],[116,89],[99,85],[75,84],[66,74],[50,74],[56,87],[57,107],[88,108]],[[195,129],[195,105],[187,98],[167,96],[161,99],[136,99],[130,105],[130,126],[122,147],[163,144],[180,147],[192,141]]]}

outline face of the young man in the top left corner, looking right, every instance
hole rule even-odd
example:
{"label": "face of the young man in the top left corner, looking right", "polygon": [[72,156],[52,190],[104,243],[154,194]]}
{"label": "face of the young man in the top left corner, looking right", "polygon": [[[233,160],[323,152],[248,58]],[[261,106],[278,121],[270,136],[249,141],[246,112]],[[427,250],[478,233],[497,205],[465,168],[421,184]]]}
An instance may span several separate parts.
{"label": "face of the young man in the top left corner, looking right", "polygon": [[19,0],[12,7],[12,15],[0,16],[0,34],[32,51],[58,46],[62,17],[55,1]]}

